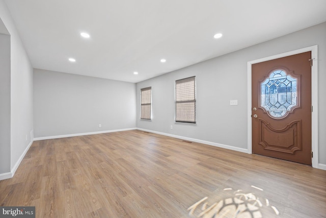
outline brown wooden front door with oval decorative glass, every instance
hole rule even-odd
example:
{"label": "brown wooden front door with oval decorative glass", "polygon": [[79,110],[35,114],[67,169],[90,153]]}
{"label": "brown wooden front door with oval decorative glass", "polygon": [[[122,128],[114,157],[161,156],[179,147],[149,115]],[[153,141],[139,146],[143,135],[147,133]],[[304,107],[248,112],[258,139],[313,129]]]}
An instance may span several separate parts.
{"label": "brown wooden front door with oval decorative glass", "polygon": [[311,52],[252,65],[252,152],[311,165]]}

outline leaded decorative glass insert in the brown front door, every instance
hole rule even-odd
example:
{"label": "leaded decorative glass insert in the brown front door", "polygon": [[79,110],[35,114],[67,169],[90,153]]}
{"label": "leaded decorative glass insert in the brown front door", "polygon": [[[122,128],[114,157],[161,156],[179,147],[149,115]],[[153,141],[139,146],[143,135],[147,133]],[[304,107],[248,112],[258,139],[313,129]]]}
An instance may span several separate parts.
{"label": "leaded decorative glass insert in the brown front door", "polygon": [[285,117],[298,106],[297,84],[297,78],[286,74],[284,70],[274,70],[261,82],[260,107],[270,117]]}

